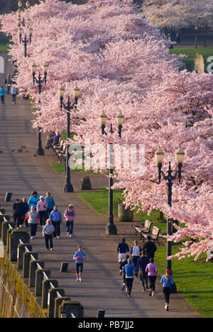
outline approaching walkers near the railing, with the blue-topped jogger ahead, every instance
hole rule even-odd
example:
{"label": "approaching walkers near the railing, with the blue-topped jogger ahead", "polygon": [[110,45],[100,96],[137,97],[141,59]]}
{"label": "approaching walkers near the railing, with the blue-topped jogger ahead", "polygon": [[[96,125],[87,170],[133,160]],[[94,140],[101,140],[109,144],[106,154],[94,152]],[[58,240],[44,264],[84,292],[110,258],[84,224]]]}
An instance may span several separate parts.
{"label": "approaching walkers near the railing, with the blue-topped jogger ahead", "polygon": [[[75,210],[72,204],[64,211],[65,226],[67,236],[72,238],[73,226],[75,220]],[[24,225],[30,228],[31,240],[35,238],[38,223],[42,228],[42,235],[45,238],[46,250],[53,251],[53,239],[60,240],[60,224],[62,223],[62,214],[55,204],[50,192],[46,192],[46,196],[38,196],[38,192],[33,191],[28,201],[23,197],[22,201],[16,199],[13,204],[13,221],[16,228]],[[83,263],[86,255],[82,250],[82,246],[77,247],[77,251],[73,256],[76,265],[76,281],[82,282]]]}

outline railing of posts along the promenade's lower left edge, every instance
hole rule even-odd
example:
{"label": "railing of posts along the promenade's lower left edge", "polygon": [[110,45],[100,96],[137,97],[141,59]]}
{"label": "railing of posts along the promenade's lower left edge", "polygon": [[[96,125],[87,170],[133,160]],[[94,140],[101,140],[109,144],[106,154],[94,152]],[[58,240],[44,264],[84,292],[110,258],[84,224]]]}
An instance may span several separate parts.
{"label": "railing of posts along the promenade's lower left edge", "polygon": [[28,287],[34,297],[41,299],[41,308],[48,309],[48,318],[83,318],[84,310],[80,302],[72,302],[70,297],[65,297],[65,290],[58,287],[58,280],[51,278],[51,271],[45,269],[45,262],[38,260],[38,253],[29,243],[29,233],[14,227],[8,215],[0,214],[0,235],[6,254],[11,262],[17,262],[16,268],[18,272],[22,271],[24,280],[28,279]]}

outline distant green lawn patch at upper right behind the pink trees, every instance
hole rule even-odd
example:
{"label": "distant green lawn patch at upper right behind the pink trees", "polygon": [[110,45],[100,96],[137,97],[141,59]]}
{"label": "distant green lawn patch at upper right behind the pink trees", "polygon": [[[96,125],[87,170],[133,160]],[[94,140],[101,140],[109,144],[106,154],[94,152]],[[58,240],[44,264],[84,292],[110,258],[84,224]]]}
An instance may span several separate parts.
{"label": "distant green lawn patch at upper right behind the pink trees", "polygon": [[187,57],[185,57],[184,59],[182,59],[182,62],[186,63],[189,62],[192,70],[195,69],[195,65],[194,65],[194,57],[196,53],[200,53],[204,56],[204,60],[205,60],[205,68],[207,68],[207,65],[209,65],[209,63],[212,62],[207,62],[207,58],[210,56],[213,56],[213,47],[210,48],[173,48],[170,49],[170,54],[176,54],[176,55],[180,55],[180,54],[185,54],[187,55]]}

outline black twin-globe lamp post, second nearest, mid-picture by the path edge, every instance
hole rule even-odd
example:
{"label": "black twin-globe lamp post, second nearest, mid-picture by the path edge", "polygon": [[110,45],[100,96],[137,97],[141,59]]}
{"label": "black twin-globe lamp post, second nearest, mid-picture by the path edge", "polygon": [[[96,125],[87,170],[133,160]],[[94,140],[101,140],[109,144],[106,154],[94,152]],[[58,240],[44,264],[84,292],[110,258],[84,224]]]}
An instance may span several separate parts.
{"label": "black twin-globe lamp post, second nearest, mid-picture by the path edge", "polygon": [[[102,114],[99,116],[99,122],[102,126],[102,134],[107,135],[105,131],[105,125],[107,122],[107,115],[102,112]],[[119,112],[118,116],[116,116],[116,123],[119,127],[119,138],[121,138],[121,130],[122,125],[124,123],[124,115]],[[114,131],[112,130],[112,124],[110,126],[110,133],[113,134]],[[109,223],[107,223],[106,226],[106,233],[107,235],[116,235],[117,234],[117,228],[114,224],[114,214],[113,214],[113,190],[111,187],[113,186],[113,143],[109,143]]]}

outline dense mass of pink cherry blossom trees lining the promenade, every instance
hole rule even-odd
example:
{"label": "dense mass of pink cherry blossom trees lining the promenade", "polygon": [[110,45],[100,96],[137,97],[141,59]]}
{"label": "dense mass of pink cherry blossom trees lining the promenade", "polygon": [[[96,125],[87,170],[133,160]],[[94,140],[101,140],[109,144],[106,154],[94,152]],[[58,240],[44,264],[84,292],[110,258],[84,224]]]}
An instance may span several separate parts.
{"label": "dense mass of pink cherry blossom trees lining the promenade", "polygon": [[[38,70],[44,62],[49,65],[48,82],[40,94],[42,107],[35,112],[33,126],[43,131],[65,130],[66,112],[60,111],[58,87],[65,87],[67,98],[77,83],[81,96],[77,110],[71,112],[75,140],[84,145],[89,139],[94,157],[99,154],[100,142],[102,150],[114,143],[115,148],[124,147],[125,153],[131,145],[144,143],[144,174],[133,172],[133,167],[125,168],[121,160],[114,174],[115,187],[125,188],[127,206],[138,211],[160,209],[184,222],[184,231],[178,228],[173,240],[190,236],[199,241],[196,245],[187,242],[178,257],[187,253],[197,258],[212,239],[209,209],[202,209],[200,214],[203,200],[212,200],[212,75],[178,72],[180,62],[169,55],[167,41],[130,0],[89,0],[82,6],[46,0],[23,15],[31,18],[33,27],[26,58],[18,41],[16,13],[1,17],[1,24],[13,41],[10,55],[17,59],[18,87],[37,101],[38,87],[32,82],[31,65],[35,62]],[[102,135],[99,125],[103,111],[108,118],[108,135]],[[119,111],[125,116],[121,138],[118,133],[110,135],[111,124],[116,131]],[[158,184],[153,160],[159,145],[173,169],[175,150],[179,146],[185,150],[182,182],[173,185],[172,209],[166,204],[165,183]],[[106,155],[100,159],[105,160]],[[141,162],[139,156],[135,161]],[[101,162],[93,168],[104,171],[107,164]],[[185,213],[181,214],[182,209]]]}

